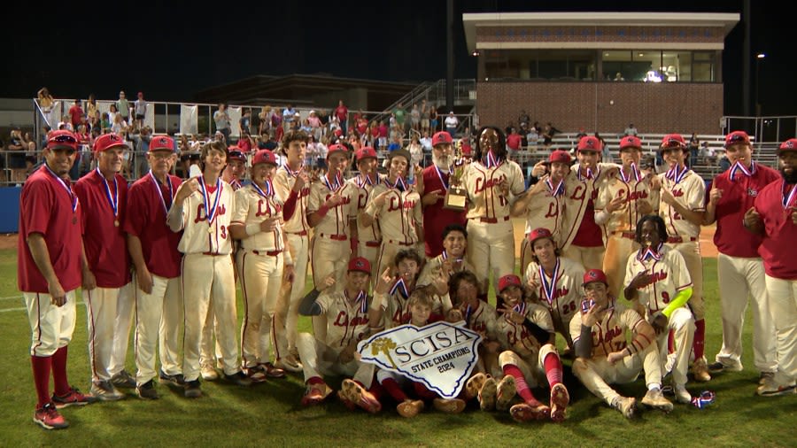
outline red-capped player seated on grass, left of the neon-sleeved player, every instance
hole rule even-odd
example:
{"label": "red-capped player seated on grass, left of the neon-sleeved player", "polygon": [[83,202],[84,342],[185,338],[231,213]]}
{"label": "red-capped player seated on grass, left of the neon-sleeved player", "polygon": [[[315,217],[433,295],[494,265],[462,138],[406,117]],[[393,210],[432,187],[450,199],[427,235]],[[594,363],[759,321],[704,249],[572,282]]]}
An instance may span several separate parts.
{"label": "red-capped player seated on grass, left of the neon-sleeved player", "polygon": [[[642,404],[669,413],[672,403],[662,394],[662,363],[654,328],[639,314],[608,295],[606,274],[591,269],[584,274],[584,301],[570,321],[576,346],[573,374],[593,395],[631,419],[636,398],[623,397],[609,384],[634,382],[645,370],[647,392]],[[631,343],[626,341],[631,332]]]}

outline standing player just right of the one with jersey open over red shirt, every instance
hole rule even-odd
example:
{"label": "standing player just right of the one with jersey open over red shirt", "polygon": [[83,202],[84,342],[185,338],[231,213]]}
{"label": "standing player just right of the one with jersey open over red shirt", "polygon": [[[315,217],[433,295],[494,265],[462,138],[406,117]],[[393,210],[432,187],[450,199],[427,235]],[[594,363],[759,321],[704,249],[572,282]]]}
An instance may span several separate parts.
{"label": "standing player just right of the one with jersey open over red shirt", "polygon": [[647,200],[650,197],[649,180],[639,172],[641,156],[642,142],[633,135],[624,136],[620,140],[623,166],[607,179],[595,200],[595,222],[606,229],[603,272],[607,275],[612,297],[618,297],[623,288],[625,261],[639,249],[634,242],[637,221],[653,212],[653,206]]}

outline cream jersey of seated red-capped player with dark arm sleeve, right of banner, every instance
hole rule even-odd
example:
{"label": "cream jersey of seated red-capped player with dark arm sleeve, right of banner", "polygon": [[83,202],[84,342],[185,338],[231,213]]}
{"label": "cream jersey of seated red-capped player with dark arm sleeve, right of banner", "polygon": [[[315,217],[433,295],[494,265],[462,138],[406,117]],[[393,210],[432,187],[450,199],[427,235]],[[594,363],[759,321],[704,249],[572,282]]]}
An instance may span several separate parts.
{"label": "cream jersey of seated red-capped player with dark arm sleeve, right of banner", "polygon": [[[515,308],[515,312],[522,313],[523,317],[533,322],[539,328],[553,333],[553,321],[551,314],[543,306],[524,302]],[[504,350],[515,351],[523,359],[531,359],[537,356],[539,348],[548,341],[538,341],[528,328],[522,323],[515,323],[509,320],[508,313],[500,315],[496,321],[498,330],[498,341]],[[537,359],[535,359],[536,363]]]}

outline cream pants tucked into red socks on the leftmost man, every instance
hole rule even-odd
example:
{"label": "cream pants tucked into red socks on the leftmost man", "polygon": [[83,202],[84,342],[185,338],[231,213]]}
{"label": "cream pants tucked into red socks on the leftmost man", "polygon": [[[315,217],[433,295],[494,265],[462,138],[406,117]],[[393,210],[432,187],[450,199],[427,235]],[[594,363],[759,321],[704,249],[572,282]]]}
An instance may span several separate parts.
{"label": "cream pants tucked into red socks on the leftmost man", "polygon": [[52,305],[50,294],[23,292],[30,324],[30,355],[46,358],[72,340],[75,319],[74,290],[66,293],[66,304]]}

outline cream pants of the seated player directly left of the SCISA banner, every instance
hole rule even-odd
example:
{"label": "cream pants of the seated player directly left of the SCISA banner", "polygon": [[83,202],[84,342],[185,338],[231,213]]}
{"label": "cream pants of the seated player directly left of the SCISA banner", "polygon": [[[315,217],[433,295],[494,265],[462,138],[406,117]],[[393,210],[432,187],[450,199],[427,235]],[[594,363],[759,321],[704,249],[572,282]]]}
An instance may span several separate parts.
{"label": "cream pants of the seated player directly left of the SCISA banner", "polygon": [[343,351],[342,347],[330,347],[310,333],[299,333],[296,346],[302,358],[305,381],[313,377],[323,378],[324,375],[344,375],[360,382],[366,389],[371,387],[375,366],[356,359],[346,363],[338,362],[337,357]]}

